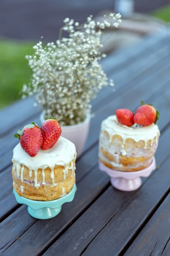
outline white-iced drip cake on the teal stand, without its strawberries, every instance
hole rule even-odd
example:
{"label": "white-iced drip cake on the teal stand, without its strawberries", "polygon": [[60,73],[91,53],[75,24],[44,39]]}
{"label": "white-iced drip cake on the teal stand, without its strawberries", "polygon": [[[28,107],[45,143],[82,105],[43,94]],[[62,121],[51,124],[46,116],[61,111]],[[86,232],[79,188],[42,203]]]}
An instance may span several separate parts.
{"label": "white-iced drip cake on the teal stand, without its strawberries", "polygon": [[75,145],[60,137],[49,149],[31,157],[19,143],[13,149],[13,188],[18,195],[40,201],[68,194],[75,183]]}

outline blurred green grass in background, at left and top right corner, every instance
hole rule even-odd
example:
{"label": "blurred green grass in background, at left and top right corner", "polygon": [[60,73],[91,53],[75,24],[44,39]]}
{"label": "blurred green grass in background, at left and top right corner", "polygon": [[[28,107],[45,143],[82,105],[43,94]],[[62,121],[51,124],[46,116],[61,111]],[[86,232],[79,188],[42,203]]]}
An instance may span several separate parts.
{"label": "blurred green grass in background, at left and top right corner", "polygon": [[[150,15],[170,22],[170,4]],[[35,43],[0,40],[0,109],[21,98],[19,91],[29,82],[32,72],[25,56],[33,54]]]}

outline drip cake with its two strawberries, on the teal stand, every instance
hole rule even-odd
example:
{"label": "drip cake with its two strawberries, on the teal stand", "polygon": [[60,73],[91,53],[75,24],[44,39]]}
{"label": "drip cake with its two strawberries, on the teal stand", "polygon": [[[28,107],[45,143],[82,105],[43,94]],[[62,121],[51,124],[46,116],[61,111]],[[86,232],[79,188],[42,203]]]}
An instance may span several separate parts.
{"label": "drip cake with its two strawberries, on the teal stand", "polygon": [[75,145],[60,136],[56,119],[35,123],[14,135],[20,143],[13,149],[13,188],[18,195],[40,201],[68,194],[75,183]]}

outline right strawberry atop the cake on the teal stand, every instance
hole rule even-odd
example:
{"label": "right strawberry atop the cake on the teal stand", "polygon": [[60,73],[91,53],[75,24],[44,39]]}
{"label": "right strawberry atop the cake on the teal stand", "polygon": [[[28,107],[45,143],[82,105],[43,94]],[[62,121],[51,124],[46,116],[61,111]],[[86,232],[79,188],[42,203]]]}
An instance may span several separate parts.
{"label": "right strawberry atop the cake on the teal stand", "polygon": [[43,143],[41,149],[46,150],[51,148],[61,135],[61,126],[58,121],[61,117],[53,119],[52,117],[46,117],[46,121],[42,124],[41,130],[43,135]]}

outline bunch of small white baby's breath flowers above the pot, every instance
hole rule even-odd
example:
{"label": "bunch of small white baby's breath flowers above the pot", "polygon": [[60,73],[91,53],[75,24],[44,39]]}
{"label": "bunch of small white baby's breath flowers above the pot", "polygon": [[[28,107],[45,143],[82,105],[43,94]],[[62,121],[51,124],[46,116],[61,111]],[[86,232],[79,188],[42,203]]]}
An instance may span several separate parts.
{"label": "bunch of small white baby's breath flowers above the pot", "polygon": [[68,38],[59,36],[56,43],[47,43],[45,47],[40,40],[33,47],[33,56],[25,56],[33,74],[30,83],[23,85],[22,98],[36,94],[37,103],[47,115],[63,116],[61,125],[83,121],[99,90],[114,85],[99,63],[106,57],[100,52],[101,37],[111,23],[118,27],[121,15],[110,13],[103,22],[92,18],[89,16],[83,25],[65,18],[62,30],[68,32]]}

